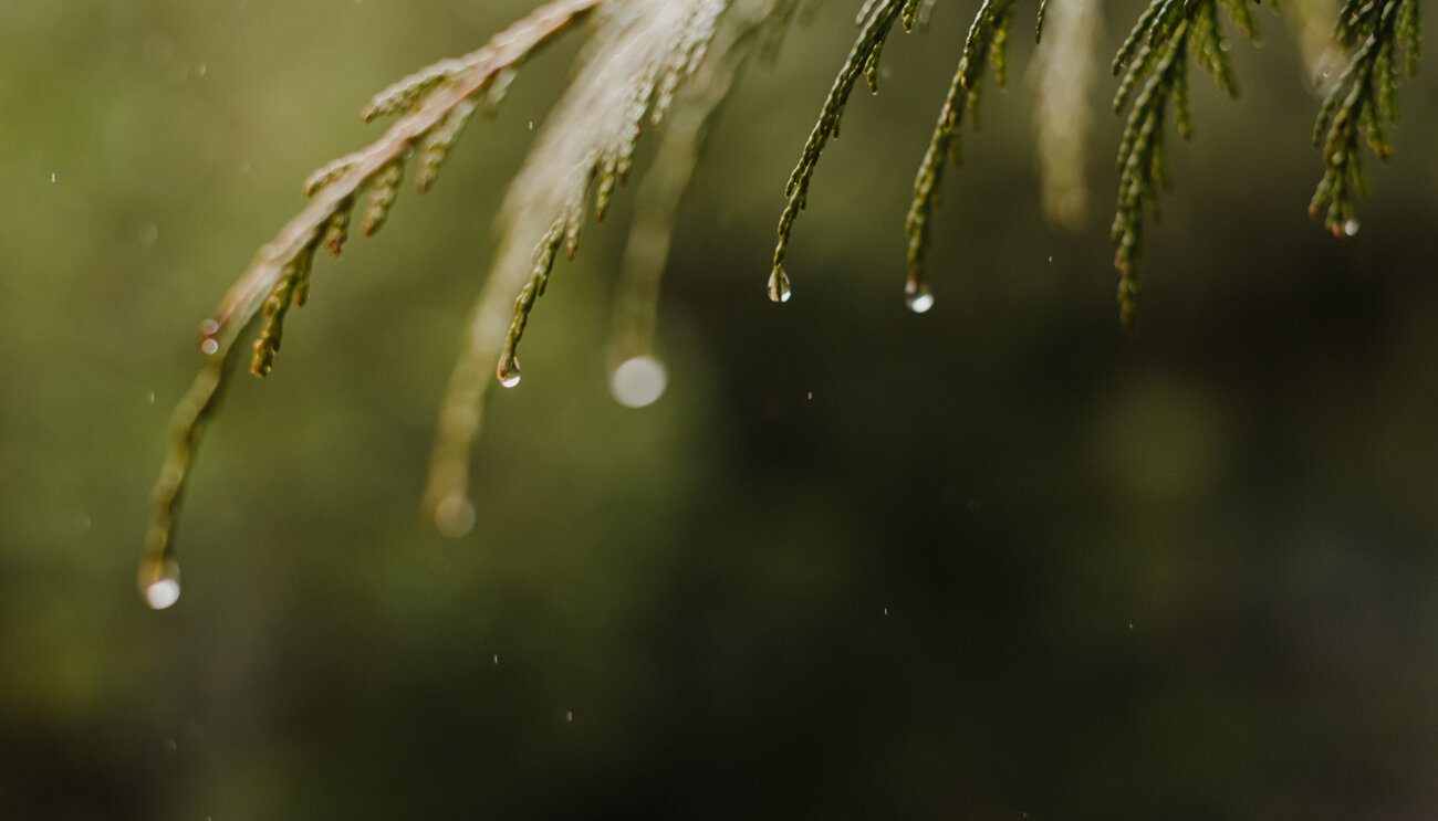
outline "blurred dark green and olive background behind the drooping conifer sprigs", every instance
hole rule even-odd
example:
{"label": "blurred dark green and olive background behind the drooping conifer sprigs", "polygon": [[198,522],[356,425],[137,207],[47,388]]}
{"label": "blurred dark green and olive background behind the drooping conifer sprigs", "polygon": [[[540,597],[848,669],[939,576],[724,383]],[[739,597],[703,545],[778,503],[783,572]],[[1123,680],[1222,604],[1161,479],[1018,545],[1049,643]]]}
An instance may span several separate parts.
{"label": "blurred dark green and olive background behind the drooping conifer sprigs", "polygon": [[[1125,337],[1107,79],[1090,230],[1041,217],[1018,70],[946,179],[938,304],[903,307],[974,3],[890,43],[798,222],[795,297],[765,299],[853,37],[857,1],[821,4],[677,217],[669,393],[605,389],[624,192],[492,398],[450,543],[417,515],[433,418],[565,40],[433,192],[319,264],[273,376],[210,428],[184,596],[147,610],[198,322],[303,177],[375,136],[371,92],[526,6],[0,3],[0,817],[1438,815],[1438,72],[1402,86],[1398,156],[1334,241],[1273,16],[1234,44],[1242,99],[1195,76]],[[1104,62],[1137,11],[1104,10]]]}

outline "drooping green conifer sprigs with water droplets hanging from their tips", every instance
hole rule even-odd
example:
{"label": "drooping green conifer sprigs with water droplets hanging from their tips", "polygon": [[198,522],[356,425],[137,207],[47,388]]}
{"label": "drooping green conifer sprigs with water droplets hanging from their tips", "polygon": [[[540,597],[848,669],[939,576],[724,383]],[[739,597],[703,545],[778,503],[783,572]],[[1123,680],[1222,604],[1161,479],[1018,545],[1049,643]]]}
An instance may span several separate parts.
{"label": "drooping green conifer sprigs with water droplets hanging from their tips", "polygon": [[[1080,0],[1055,0],[1077,3]],[[1041,49],[1050,0],[1040,0],[1035,40]],[[406,165],[414,162],[420,191],[434,185],[444,159],[476,112],[492,115],[522,63],[557,34],[588,19],[590,46],[564,98],[555,105],[531,158],[506,200],[508,230],[489,281],[473,310],[460,359],[454,367],[437,423],[437,442],[424,491],[424,510],[444,534],[462,535],[475,521],[467,499],[469,459],[480,428],[482,405],[493,373],[503,386],[519,382],[518,347],[533,307],[544,296],[561,250],[574,257],[592,204],[595,220],[607,214],[617,188],[628,178],[644,125],[660,133],[654,168],[640,192],[626,251],[626,271],[615,304],[613,359],[615,395],[644,403],[663,389],[663,369],[651,357],[659,280],[669,248],[674,207],[697,161],[706,123],[732,89],[748,57],[775,46],[800,9],[800,0],[551,0],[463,57],[447,59],[381,90],[364,109],[370,122],[395,122],[378,141],[342,156],[305,181],[309,205],[263,245],[249,268],[203,323],[204,366],[177,406],[170,446],[152,494],[151,522],[139,581],[147,600],[167,607],[178,596],[178,566],[173,530],[178,499],[200,432],[217,408],[234,359],[236,342],[256,322],[250,372],[267,375],[275,366],[283,323],[292,306],[303,306],[311,291],[316,251],[341,255],[361,192],[368,192],[361,233],[380,230],[398,198]],[[858,36],[843,62],[820,116],[785,185],[778,243],[768,281],[769,299],[788,301],[792,290],[785,260],[794,221],[805,208],[818,158],[838,138],[848,98],[863,78],[879,92],[880,59],[899,23],[906,32],[923,29],[935,0],[864,0]],[[982,0],[963,43],[928,149],[919,164],[913,201],[905,221],[909,238],[905,294],[909,307],[925,311],[933,296],[925,277],[925,255],[935,231],[935,207],[949,161],[959,164],[959,128],[965,112],[976,125],[986,67],[1007,83],[1008,43],[1015,0]],[[1116,113],[1129,111],[1117,154],[1119,195],[1113,220],[1114,264],[1119,271],[1119,314],[1132,327],[1139,294],[1137,260],[1146,215],[1158,214],[1158,195],[1168,184],[1166,119],[1185,139],[1192,133],[1189,62],[1212,75],[1219,90],[1235,96],[1238,82],[1219,23],[1224,14],[1255,39],[1258,29],[1250,0],[1153,0],[1113,60],[1122,75],[1113,100]],[[1060,17],[1057,10],[1055,17]],[[1074,26],[1070,17],[1067,26]],[[1055,19],[1054,24],[1058,22]],[[1060,36],[1078,36],[1061,27]],[[1352,50],[1347,69],[1329,92],[1314,126],[1323,151],[1324,174],[1310,204],[1314,218],[1334,234],[1356,228],[1355,201],[1368,192],[1357,156],[1362,132],[1380,159],[1392,154],[1388,125],[1396,121],[1399,52],[1403,73],[1418,69],[1421,27],[1416,0],[1347,0],[1336,39]],[[1051,39],[1050,39],[1051,40]],[[759,46],[758,49],[755,46]],[[1055,62],[1045,82],[1066,70],[1083,73],[1087,57],[1073,65]],[[1064,85],[1064,89],[1086,88]],[[1074,118],[1071,105],[1061,106]],[[1081,128],[1078,129],[1081,132]],[[1063,129],[1054,133],[1064,133]],[[1041,139],[1041,146],[1045,142]],[[1053,151],[1053,141],[1048,148]],[[1066,164],[1045,161],[1045,174]],[[1080,158],[1081,159],[1081,158]],[[1080,164],[1081,165],[1081,164]],[[1054,172],[1057,174],[1057,172]],[[640,367],[628,367],[638,363]],[[656,379],[633,396],[620,390],[638,373]]]}

